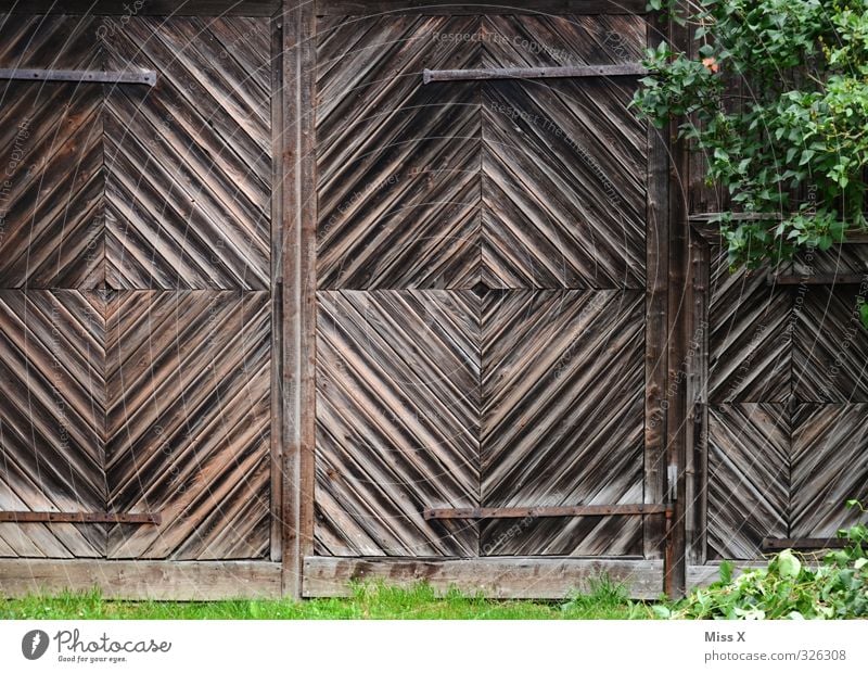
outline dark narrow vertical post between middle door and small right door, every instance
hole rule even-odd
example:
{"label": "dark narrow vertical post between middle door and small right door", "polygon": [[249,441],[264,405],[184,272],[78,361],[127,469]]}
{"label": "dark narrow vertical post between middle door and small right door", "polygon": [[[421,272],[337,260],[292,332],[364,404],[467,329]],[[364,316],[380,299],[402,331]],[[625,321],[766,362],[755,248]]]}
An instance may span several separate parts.
{"label": "dark narrow vertical post between middle door and small right door", "polygon": [[[687,11],[686,2],[678,2],[679,13]],[[675,51],[685,50],[689,28],[669,21],[669,41]],[[689,224],[687,218],[687,178],[689,172],[687,147],[676,139],[678,120],[669,124],[669,144],[673,160],[669,169],[669,291],[668,291],[668,384],[666,442],[668,446],[669,491],[675,496],[668,544],[672,559],[665,570],[666,592],[669,596],[684,595],[687,588],[686,556],[686,455],[687,455],[687,370],[686,359],[689,334],[687,267],[689,259]],[[674,483],[673,483],[674,482]]]}

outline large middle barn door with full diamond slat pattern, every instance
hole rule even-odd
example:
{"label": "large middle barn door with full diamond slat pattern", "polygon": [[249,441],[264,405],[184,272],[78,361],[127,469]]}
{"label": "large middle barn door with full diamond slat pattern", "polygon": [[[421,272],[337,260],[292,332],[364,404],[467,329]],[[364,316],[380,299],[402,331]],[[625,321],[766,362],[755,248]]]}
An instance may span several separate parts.
{"label": "large middle barn door with full diamond slat pattern", "polygon": [[468,72],[629,71],[644,18],[319,11],[306,593],[454,558],[503,595],[534,589],[492,569],[557,594],[587,558],[659,593],[665,175],[637,77]]}

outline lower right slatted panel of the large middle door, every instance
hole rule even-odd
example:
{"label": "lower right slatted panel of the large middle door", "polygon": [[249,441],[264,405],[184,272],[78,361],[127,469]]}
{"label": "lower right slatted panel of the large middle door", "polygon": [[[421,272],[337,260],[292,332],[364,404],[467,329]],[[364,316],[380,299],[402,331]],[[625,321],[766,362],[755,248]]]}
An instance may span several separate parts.
{"label": "lower right slatted panel of the large middle door", "polygon": [[[485,507],[641,501],[643,293],[494,291],[483,312]],[[486,555],[641,555],[641,520],[492,521]]]}

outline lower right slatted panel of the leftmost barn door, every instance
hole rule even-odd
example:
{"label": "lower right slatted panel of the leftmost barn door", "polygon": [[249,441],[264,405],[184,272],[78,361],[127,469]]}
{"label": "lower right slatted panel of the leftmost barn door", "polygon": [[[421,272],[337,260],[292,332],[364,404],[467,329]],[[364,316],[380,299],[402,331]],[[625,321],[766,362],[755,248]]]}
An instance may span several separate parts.
{"label": "lower right slatted panel of the leftmost barn door", "polygon": [[261,558],[269,549],[270,315],[264,292],[112,295],[111,558]]}

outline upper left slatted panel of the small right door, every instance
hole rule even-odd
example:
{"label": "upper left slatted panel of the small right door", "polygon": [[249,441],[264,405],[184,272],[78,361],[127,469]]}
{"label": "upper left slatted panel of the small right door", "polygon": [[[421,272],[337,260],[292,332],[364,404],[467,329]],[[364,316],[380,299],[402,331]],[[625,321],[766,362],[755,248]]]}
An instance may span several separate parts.
{"label": "upper left slatted panel of the small right door", "polygon": [[791,291],[767,284],[764,272],[730,272],[719,246],[712,247],[710,279],[710,401],[786,402],[792,391]]}

